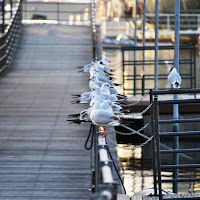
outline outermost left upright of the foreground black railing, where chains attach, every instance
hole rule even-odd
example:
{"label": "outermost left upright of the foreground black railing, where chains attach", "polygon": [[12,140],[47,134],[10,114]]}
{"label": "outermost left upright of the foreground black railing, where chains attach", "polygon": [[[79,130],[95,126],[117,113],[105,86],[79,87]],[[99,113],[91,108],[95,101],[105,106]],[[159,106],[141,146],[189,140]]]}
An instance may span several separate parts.
{"label": "outermost left upright of the foreground black railing, where chains attach", "polygon": [[[152,89],[150,89],[150,103],[153,103],[153,94],[152,94]],[[152,168],[153,168],[153,184],[154,184],[154,195],[157,195],[157,179],[156,179],[156,175],[157,175],[157,169],[156,169],[156,146],[155,146],[155,131],[154,131],[154,105],[151,106],[150,109],[150,116],[151,116],[151,132],[152,135],[154,135],[154,138],[152,139]]]}

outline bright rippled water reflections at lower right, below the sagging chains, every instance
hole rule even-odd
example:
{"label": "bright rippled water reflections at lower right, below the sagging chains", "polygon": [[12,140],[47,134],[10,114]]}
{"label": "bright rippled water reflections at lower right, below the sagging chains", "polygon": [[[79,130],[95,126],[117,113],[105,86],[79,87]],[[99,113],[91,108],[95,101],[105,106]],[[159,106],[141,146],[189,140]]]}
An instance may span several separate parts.
{"label": "bright rippled water reflections at lower right, below the sagging chains", "polygon": [[[144,160],[141,148],[134,151],[123,149],[123,147],[134,147],[134,145],[119,144],[118,156],[121,164],[121,173],[124,179],[124,186],[129,196],[144,190],[153,188],[153,170],[151,169],[151,159]],[[171,179],[171,171],[163,171],[162,179]],[[179,178],[200,178],[200,169],[180,170]],[[164,191],[172,192],[171,183],[163,183]],[[179,183],[178,191],[180,193],[200,192],[200,182]]]}

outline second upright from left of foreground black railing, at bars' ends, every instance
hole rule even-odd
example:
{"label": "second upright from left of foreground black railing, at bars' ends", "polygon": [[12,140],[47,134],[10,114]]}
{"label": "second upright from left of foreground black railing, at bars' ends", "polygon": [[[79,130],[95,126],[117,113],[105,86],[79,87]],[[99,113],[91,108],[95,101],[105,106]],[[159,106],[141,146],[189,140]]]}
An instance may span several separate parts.
{"label": "second upright from left of foreground black railing, at bars' ends", "polygon": [[159,200],[162,200],[162,184],[161,184],[161,159],[160,159],[160,136],[159,136],[159,127],[158,127],[158,99],[154,97],[154,120],[155,120],[155,140],[156,140],[156,164],[157,164],[157,173],[158,173],[158,189],[159,189]]}

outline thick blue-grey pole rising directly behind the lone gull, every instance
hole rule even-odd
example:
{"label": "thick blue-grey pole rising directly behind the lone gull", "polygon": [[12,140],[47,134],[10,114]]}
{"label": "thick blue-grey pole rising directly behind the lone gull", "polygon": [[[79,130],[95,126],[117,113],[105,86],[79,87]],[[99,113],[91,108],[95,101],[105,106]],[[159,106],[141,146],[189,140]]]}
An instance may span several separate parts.
{"label": "thick blue-grey pole rising directly behind the lone gull", "polygon": [[[174,46],[174,67],[179,71],[179,26],[180,26],[180,0],[175,1],[175,46]],[[174,99],[178,99],[178,94],[174,95]],[[173,105],[173,119],[178,119],[178,104]],[[173,131],[178,132],[178,123],[173,124]],[[173,149],[179,148],[179,137],[173,137]],[[173,153],[173,164],[178,165],[179,158],[177,153]],[[173,178],[178,178],[178,169],[173,170]],[[178,183],[173,183],[173,192],[178,192]]]}

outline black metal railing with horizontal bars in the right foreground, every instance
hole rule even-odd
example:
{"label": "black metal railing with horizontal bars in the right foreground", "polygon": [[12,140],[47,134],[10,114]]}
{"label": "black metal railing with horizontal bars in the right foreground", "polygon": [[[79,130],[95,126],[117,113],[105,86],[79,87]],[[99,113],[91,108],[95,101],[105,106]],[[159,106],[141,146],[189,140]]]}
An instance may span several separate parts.
{"label": "black metal railing with horizontal bars in the right foreground", "polygon": [[[162,196],[162,183],[172,183],[174,184],[178,182],[194,182],[200,181],[200,178],[179,178],[178,169],[192,169],[199,168],[200,163],[194,164],[179,164],[179,158],[177,155],[182,155],[186,158],[186,153],[190,152],[200,152],[199,148],[190,148],[190,149],[167,149],[161,150],[160,146],[160,138],[163,136],[173,137],[173,136],[192,136],[192,135],[200,135],[200,131],[177,131],[177,132],[160,132],[160,124],[169,124],[169,123],[189,123],[189,122],[199,122],[200,118],[191,118],[191,119],[168,119],[168,120],[160,120],[159,119],[159,106],[166,104],[195,104],[200,103],[200,99],[176,99],[176,100],[158,100],[159,95],[165,94],[197,94],[200,93],[200,89],[189,89],[189,90],[175,90],[175,91],[152,91],[150,90],[150,101],[153,103],[153,107],[151,109],[151,132],[154,134],[154,141],[152,143],[153,147],[153,171],[154,171],[154,194],[157,195],[157,184],[158,184],[158,196],[159,200],[165,200],[168,198],[163,198]],[[180,141],[181,142],[181,141]],[[167,160],[169,160],[169,154],[173,156],[173,164],[162,165],[161,163],[161,154],[164,157],[164,154],[168,154]],[[174,159],[176,161],[174,162]],[[163,179],[161,176],[161,171],[163,170],[172,170],[173,178],[172,179]],[[177,187],[177,185],[176,185]],[[200,197],[199,197],[200,198]],[[173,197],[173,199],[197,199],[197,197]]]}

